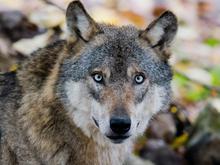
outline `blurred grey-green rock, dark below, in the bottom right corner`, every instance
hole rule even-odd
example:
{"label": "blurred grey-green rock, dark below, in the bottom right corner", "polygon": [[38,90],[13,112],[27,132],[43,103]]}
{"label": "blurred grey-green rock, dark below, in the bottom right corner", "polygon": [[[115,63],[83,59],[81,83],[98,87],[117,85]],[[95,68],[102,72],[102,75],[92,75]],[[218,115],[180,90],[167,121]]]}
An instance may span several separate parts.
{"label": "blurred grey-green rock, dark below, in the bottom right corner", "polygon": [[200,113],[187,144],[186,159],[189,164],[220,164],[219,119],[220,111],[212,106],[212,104],[207,105]]}

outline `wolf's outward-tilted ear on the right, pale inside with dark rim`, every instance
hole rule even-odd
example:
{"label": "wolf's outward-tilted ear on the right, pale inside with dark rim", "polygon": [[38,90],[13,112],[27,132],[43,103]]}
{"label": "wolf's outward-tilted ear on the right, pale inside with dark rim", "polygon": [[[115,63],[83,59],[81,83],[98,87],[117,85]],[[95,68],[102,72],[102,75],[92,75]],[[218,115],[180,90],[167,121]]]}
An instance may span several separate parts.
{"label": "wolf's outward-tilted ear on the right, pale inside with dark rim", "polygon": [[159,47],[160,50],[170,45],[177,32],[177,18],[170,12],[164,12],[159,18],[153,21],[141,37],[148,40],[152,47]]}

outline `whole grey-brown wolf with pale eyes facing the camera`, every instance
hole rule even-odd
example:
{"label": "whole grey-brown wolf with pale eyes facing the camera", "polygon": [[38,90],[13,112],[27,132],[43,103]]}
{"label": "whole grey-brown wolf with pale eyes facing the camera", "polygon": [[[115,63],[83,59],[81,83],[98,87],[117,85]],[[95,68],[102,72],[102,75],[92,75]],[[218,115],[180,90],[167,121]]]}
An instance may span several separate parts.
{"label": "whole grey-brown wolf with pale eyes facing the camera", "polygon": [[66,22],[65,40],[1,75],[2,165],[121,165],[171,102],[172,12],[140,30],[96,23],[73,1]]}

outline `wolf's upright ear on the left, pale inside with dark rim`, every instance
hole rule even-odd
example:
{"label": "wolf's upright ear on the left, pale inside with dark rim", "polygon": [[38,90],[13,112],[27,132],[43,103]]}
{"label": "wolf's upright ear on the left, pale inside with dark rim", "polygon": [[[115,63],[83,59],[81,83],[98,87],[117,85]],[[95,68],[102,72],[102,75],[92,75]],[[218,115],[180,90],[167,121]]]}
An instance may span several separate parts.
{"label": "wolf's upright ear on the left, pale inside with dark rim", "polygon": [[81,38],[84,41],[98,32],[98,25],[88,15],[80,1],[73,1],[69,4],[66,11],[67,28],[70,32],[69,40],[75,41]]}

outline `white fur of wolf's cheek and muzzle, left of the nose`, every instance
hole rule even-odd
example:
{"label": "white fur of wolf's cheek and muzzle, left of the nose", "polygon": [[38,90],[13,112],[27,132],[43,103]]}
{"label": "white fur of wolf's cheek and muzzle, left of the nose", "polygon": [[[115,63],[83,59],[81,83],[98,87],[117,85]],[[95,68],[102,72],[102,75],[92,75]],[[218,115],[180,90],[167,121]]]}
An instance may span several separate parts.
{"label": "white fur of wolf's cheek and muzzle, left of the nose", "polygon": [[98,130],[93,117],[98,121],[99,131],[102,134],[109,131],[107,108],[89,96],[84,83],[68,81],[65,83],[65,92],[68,99],[68,113],[85,135],[92,137],[93,133]]}

